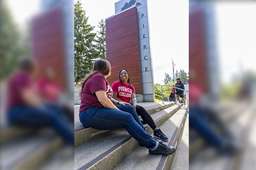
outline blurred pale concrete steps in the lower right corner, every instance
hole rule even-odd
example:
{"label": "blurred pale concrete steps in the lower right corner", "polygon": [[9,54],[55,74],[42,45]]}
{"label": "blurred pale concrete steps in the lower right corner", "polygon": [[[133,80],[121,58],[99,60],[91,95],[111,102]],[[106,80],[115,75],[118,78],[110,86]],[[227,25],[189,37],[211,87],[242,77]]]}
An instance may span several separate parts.
{"label": "blurred pale concrete steps in the lower right corner", "polygon": [[[255,153],[246,151],[247,147],[251,147],[248,138],[254,136],[250,133],[252,133],[256,122],[255,105],[248,104],[248,102],[236,102],[221,106],[217,113],[232,132],[232,142],[241,147],[242,152],[234,155],[223,155],[200,137],[194,137],[191,140],[191,135],[189,136],[189,169],[255,169],[255,166],[251,166],[252,164],[244,164],[246,161],[255,162]],[[190,134],[193,133],[191,130],[189,132]]]}

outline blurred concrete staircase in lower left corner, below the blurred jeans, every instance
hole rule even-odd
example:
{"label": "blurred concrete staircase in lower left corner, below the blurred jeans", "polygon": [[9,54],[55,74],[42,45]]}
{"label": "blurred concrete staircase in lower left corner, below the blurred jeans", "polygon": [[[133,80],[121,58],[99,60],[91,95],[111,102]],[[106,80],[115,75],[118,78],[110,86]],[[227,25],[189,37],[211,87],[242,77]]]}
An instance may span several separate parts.
{"label": "blurred concrete staircase in lower left corner, below the blurred jeans", "polygon": [[63,141],[52,130],[8,127],[0,131],[0,169],[38,169]]}

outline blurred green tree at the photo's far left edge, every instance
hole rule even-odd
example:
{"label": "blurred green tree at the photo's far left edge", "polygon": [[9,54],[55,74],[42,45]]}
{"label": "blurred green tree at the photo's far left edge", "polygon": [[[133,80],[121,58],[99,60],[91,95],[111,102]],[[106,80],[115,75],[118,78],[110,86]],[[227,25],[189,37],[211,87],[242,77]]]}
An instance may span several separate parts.
{"label": "blurred green tree at the photo's far left edge", "polygon": [[[0,79],[4,79],[17,68],[17,60],[20,56],[28,55],[28,42],[23,38],[13,22],[10,9],[6,1],[0,4]],[[24,30],[27,31],[27,30]]]}

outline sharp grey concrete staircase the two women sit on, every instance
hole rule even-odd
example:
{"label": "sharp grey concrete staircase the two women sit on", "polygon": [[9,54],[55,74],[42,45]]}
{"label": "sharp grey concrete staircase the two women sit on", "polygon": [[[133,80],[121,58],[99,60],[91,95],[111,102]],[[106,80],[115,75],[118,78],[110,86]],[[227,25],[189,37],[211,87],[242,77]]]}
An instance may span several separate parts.
{"label": "sharp grey concrete staircase the two women sit on", "polygon": [[[140,103],[151,114],[157,127],[169,137],[168,146],[179,144],[188,109],[180,109],[175,102]],[[75,106],[74,169],[170,169],[173,155],[150,155],[124,128],[95,130],[84,128]],[[148,134],[153,130],[145,125]],[[188,159],[188,157],[187,157]]]}

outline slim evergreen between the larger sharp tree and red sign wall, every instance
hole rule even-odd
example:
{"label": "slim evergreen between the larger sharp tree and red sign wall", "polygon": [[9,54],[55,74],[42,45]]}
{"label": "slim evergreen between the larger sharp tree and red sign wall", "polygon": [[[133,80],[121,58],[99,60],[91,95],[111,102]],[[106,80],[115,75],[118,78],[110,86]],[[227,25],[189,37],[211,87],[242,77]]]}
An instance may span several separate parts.
{"label": "slim evergreen between the larger sharp tree and red sign wall", "polygon": [[99,51],[99,58],[106,59],[106,25],[105,20],[101,19],[98,25],[100,31],[97,31],[97,50]]}

